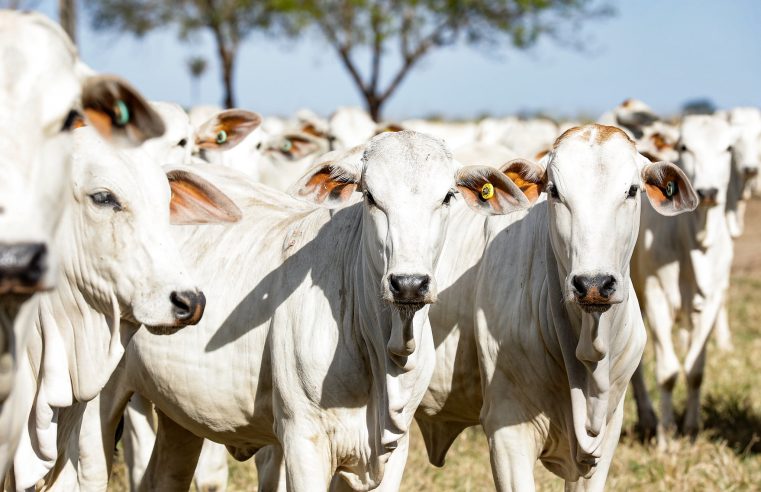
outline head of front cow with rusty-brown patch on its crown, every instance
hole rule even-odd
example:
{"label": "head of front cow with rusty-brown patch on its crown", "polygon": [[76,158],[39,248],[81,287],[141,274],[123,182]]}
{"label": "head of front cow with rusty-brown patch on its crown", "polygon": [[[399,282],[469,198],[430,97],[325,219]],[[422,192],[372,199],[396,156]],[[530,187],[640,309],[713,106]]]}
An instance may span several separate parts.
{"label": "head of front cow with rusty-brown patch on its crown", "polygon": [[604,312],[626,297],[640,191],[665,215],[696,204],[677,166],[651,163],[615,127],[566,131],[547,156],[546,173],[550,240],[565,275],[564,298],[586,312]]}

